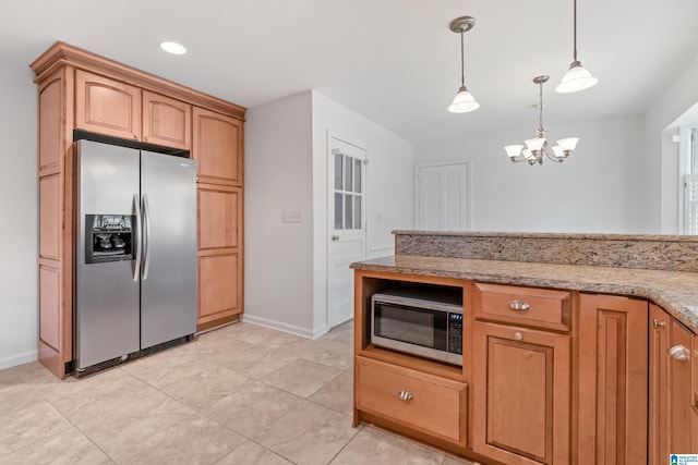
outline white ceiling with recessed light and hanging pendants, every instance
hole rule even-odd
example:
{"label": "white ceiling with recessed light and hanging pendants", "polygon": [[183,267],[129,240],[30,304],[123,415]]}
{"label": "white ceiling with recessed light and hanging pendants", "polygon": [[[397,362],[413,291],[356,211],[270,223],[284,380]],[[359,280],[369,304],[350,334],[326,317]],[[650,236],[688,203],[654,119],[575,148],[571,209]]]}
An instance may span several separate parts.
{"label": "white ceiling with recessed light and hanging pendants", "polygon": [[[472,113],[446,111],[466,33]],[[0,60],[27,74],[56,40],[255,107],[315,89],[413,142],[641,113],[698,56],[696,0],[578,0],[578,58],[599,78],[553,87],[573,54],[573,0],[22,0],[0,13]],[[161,40],[189,53],[168,56]],[[698,84],[697,84],[698,85]]]}

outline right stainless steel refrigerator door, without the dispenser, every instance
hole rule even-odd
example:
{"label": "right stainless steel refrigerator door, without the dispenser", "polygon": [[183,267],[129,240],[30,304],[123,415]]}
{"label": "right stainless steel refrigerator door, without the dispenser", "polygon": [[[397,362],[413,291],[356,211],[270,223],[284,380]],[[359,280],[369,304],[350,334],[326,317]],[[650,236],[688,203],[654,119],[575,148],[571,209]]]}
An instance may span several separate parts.
{"label": "right stainless steel refrigerator door, without the dispenser", "polygon": [[141,152],[141,348],[196,331],[196,161]]}

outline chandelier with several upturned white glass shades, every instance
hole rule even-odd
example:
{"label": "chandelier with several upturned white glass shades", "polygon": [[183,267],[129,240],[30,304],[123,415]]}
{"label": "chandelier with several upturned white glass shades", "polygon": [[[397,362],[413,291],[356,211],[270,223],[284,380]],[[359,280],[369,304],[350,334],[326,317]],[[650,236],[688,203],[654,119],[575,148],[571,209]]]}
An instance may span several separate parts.
{"label": "chandelier with several upturned white glass shades", "polygon": [[507,145],[504,147],[509,160],[517,163],[519,161],[528,161],[528,164],[543,164],[545,157],[553,161],[562,163],[573,152],[579,137],[567,137],[557,140],[557,145],[552,149],[547,145],[545,139],[545,129],[543,127],[543,84],[547,82],[547,76],[535,76],[533,83],[540,86],[540,102],[538,108],[540,110],[539,127],[535,130],[538,137],[533,137],[525,140],[526,148],[522,145]]}

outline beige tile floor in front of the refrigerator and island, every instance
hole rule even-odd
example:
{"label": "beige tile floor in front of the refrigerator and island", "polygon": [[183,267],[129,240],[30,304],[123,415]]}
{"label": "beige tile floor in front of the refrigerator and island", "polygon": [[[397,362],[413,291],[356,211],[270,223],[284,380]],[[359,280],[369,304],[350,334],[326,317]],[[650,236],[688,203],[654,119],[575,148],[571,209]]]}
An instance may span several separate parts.
{"label": "beige tile floor in front of the refrigerator and island", "polygon": [[0,370],[0,464],[466,464],[351,427],[351,322],[240,322],[82,379]]}

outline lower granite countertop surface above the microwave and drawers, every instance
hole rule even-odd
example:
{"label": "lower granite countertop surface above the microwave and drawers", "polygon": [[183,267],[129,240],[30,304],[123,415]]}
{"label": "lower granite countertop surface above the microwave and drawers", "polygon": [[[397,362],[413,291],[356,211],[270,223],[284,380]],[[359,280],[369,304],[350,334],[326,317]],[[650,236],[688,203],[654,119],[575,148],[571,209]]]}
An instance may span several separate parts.
{"label": "lower granite countertop surface above the microwave and drawers", "polygon": [[698,272],[416,255],[376,258],[351,268],[636,296],[655,303],[698,333]]}

